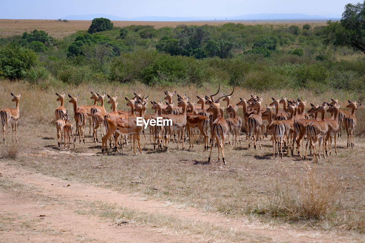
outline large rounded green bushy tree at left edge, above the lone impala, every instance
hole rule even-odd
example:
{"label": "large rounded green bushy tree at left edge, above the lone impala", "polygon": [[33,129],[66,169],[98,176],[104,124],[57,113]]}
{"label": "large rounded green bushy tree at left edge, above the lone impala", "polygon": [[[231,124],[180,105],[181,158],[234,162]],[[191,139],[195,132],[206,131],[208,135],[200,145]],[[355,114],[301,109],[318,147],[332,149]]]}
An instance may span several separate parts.
{"label": "large rounded green bushy tree at left edge, above the lone impala", "polygon": [[26,76],[37,64],[37,54],[15,42],[0,46],[0,77],[15,80]]}

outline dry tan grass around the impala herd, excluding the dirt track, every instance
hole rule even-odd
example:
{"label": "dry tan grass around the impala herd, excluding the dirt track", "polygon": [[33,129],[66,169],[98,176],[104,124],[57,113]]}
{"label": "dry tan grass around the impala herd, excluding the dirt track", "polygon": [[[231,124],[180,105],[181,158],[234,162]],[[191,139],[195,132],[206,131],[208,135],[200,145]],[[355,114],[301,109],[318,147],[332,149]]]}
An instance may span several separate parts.
{"label": "dry tan grass around the impala herd, excluding the dirt track", "polygon": [[[149,138],[141,140],[145,155],[133,156],[127,146],[121,155],[113,152],[103,156],[100,153],[100,143],[93,143],[90,136],[85,137],[86,144],[77,143],[76,150],[60,151],[57,149],[56,128],[53,124],[54,109],[58,106],[55,92],[71,95],[80,93],[80,104],[91,104],[90,90],[118,95],[120,100],[124,96],[132,97],[133,92],[140,91],[142,94],[149,94],[149,100],[159,101],[163,100],[163,90],[177,90],[177,93],[187,93],[193,99],[196,95],[209,95],[218,87],[191,85],[151,88],[136,83],[81,86],[60,84],[56,88],[41,89],[30,88],[23,82],[6,81],[0,82],[0,86],[0,95],[8,97],[0,100],[1,108],[14,106],[9,95],[11,91],[22,93],[18,128],[22,153],[16,161],[6,159],[9,163],[20,164],[28,169],[70,181],[94,183],[124,193],[137,194],[141,198],[192,206],[204,212],[218,212],[227,217],[261,215],[258,219],[266,224],[282,224],[288,219],[293,219],[296,223],[290,227],[310,225],[324,230],[364,232],[365,198],[362,195],[365,194],[365,172],[362,168],[365,166],[365,139],[361,136],[355,138],[357,147],[354,149],[346,149],[346,139],[339,138],[339,154],[321,159],[318,163],[312,163],[312,157],[303,161],[297,156],[292,158],[288,155],[276,162],[272,157],[270,141],[265,139],[262,142],[261,151],[248,149],[243,134],[240,146],[226,144],[224,147],[227,166],[216,163],[216,148],[212,154],[213,161],[207,165],[208,153],[203,153],[202,143],[195,144],[194,149],[190,151],[176,150],[176,145],[171,144],[170,153],[160,150],[153,152],[153,144]],[[230,92],[230,89],[221,87],[222,93]],[[238,97],[247,98],[249,94],[249,90],[237,87],[232,100],[237,102]],[[272,96],[307,98],[308,104],[338,97],[342,107],[347,99],[358,97],[358,94],[350,92],[326,92],[316,95],[308,90],[271,90],[261,95],[264,97],[264,103],[271,102]],[[176,97],[174,100],[176,101]],[[72,114],[68,99],[65,107]],[[120,101],[119,109],[126,109],[126,102]],[[363,109],[359,108],[356,116],[357,131],[362,132]],[[88,127],[85,131],[87,134]],[[6,136],[10,138],[10,130],[7,130]],[[311,176],[308,175],[308,164],[316,172]],[[137,181],[139,183],[134,183]],[[274,219],[274,209],[270,204],[279,205],[277,201],[273,201],[278,186],[285,188],[287,194],[284,196],[290,200],[287,200],[286,204],[281,201],[282,208],[277,210],[286,207],[287,212],[280,214],[278,211],[276,215],[281,217]],[[330,192],[334,192],[336,196]],[[323,207],[317,207],[314,202],[323,199],[325,201],[318,205]],[[308,223],[303,222],[304,219],[320,220],[310,220]]]}

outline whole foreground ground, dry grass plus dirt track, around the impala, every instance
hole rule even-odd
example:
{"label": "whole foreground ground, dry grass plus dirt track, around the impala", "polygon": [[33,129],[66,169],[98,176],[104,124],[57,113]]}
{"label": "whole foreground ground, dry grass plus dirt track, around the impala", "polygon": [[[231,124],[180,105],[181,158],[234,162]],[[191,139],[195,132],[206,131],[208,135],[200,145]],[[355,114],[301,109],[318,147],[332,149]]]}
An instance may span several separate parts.
{"label": "whole foreground ground, dry grass plus dirt track, around the impala", "polygon": [[[217,85],[218,86],[218,85]],[[196,139],[191,150],[170,153],[157,149],[141,135],[142,154],[130,145],[121,153],[101,154],[85,128],[86,144],[59,150],[54,110],[55,92],[79,94],[78,105],[91,105],[90,91],[118,95],[118,109],[126,110],[124,97],[133,92],[162,101],[164,91],[175,91],[194,100],[215,93],[216,86],[149,87],[140,83],[83,84],[80,86],[30,86],[26,82],[0,81],[0,108],[14,108],[10,92],[22,93],[18,144],[0,144],[1,241],[110,242],[125,236],[128,242],[360,242],[365,232],[365,112],[357,110],[356,147],[346,149],[346,132],[338,138],[338,155],[318,162],[294,153],[274,159],[272,142],[262,150],[226,144],[227,165],[217,163],[217,149],[207,164],[209,151]],[[228,93],[231,87],[222,86]],[[231,103],[250,97],[250,90],[236,87]],[[253,94],[253,93],[252,93]],[[341,108],[361,94],[308,90],[271,90],[258,94],[263,104],[271,97],[307,98],[322,103],[338,98]],[[173,100],[176,103],[176,96]],[[73,117],[72,106],[65,108]],[[224,107],[226,104],[222,104]],[[148,107],[150,108],[150,104]],[[109,105],[105,105],[107,111]],[[281,108],[281,107],[280,107]],[[307,107],[308,109],[308,107]],[[152,113],[151,109],[147,113]],[[242,116],[242,109],[238,115]],[[242,116],[243,117],[243,116]],[[75,127],[72,118],[71,123]],[[98,131],[100,133],[100,131]],[[198,135],[196,135],[198,136]],[[188,141],[185,142],[187,148]],[[302,151],[304,149],[302,148]],[[53,184],[53,185],[52,185]],[[68,186],[70,185],[70,186]],[[39,215],[45,215],[39,217]]]}

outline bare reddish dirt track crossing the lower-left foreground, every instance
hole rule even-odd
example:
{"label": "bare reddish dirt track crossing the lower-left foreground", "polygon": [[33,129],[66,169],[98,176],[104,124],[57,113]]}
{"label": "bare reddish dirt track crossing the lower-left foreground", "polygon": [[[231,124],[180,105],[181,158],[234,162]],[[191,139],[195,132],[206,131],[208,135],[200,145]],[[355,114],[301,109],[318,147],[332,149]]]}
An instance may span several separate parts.
{"label": "bare reddish dirt track crossing the lower-left foreground", "polygon": [[[249,223],[243,219],[228,220],[214,213],[201,213],[195,208],[176,207],[151,200],[141,200],[139,197],[121,194],[112,190],[86,185],[78,182],[68,182],[59,178],[36,174],[17,168],[6,162],[1,162],[0,173],[12,183],[25,184],[27,192],[7,193],[3,189],[0,196],[1,214],[16,213],[16,219],[8,230],[0,231],[1,241],[31,242],[54,241],[74,242],[190,242],[199,239],[197,235],[171,235],[163,229],[141,226],[133,222],[118,223],[102,220],[95,215],[77,214],[82,210],[80,201],[101,201],[143,212],[164,213],[185,220],[210,222],[218,227],[233,228],[245,231],[249,238],[258,241],[272,242],[350,242],[347,237],[333,234],[323,234],[315,231],[293,231],[281,226],[270,229],[256,223]],[[70,185],[70,186],[67,186]],[[31,193],[31,195],[28,195]],[[45,215],[39,217],[39,215]],[[21,219],[19,219],[19,216]],[[28,231],[20,232],[17,226],[24,224],[24,219],[32,221],[34,225]],[[23,221],[22,221],[23,220]],[[53,234],[49,234],[52,232]],[[249,240],[249,238],[247,240]],[[252,240],[251,238],[251,240]],[[255,240],[256,241],[256,240]]]}

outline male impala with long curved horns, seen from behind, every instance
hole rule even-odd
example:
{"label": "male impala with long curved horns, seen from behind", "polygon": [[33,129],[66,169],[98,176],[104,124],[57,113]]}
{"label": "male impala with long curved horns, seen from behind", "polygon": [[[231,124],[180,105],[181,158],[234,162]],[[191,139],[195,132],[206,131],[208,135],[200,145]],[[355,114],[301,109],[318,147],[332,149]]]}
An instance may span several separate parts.
{"label": "male impala with long curved horns, seen from behind", "polygon": [[[219,84],[219,88],[220,88],[220,84]],[[218,88],[218,92],[219,92],[219,88]],[[218,92],[215,94],[217,95]],[[234,92],[234,85],[233,85],[233,90],[232,93],[230,95],[232,95]],[[220,161],[219,158],[219,151],[222,152],[222,159],[223,159],[223,163],[224,165],[226,165],[226,160],[224,158],[224,140],[226,140],[226,135],[227,132],[229,131],[229,127],[227,124],[227,121],[224,120],[224,118],[222,117],[223,112],[221,113],[220,107],[219,107],[219,99],[225,97],[220,97],[218,100],[216,100],[215,102],[213,101],[213,96],[215,95],[211,95],[211,100],[207,100],[209,107],[207,109],[208,112],[212,113],[212,117],[213,117],[213,124],[211,126],[211,146],[210,146],[210,154],[208,157],[208,163],[210,162],[210,158],[212,155],[212,150],[213,150],[213,145],[215,144],[215,139],[217,140],[217,144],[219,146],[218,148],[218,161]],[[227,95],[227,96],[230,96]]]}

